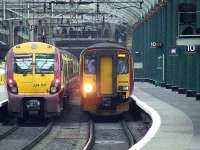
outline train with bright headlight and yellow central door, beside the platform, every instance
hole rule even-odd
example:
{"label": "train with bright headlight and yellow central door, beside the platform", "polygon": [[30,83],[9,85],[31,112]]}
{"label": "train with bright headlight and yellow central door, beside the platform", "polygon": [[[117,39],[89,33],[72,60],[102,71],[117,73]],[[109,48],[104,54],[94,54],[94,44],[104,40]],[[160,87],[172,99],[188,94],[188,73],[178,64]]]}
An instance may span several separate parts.
{"label": "train with bright headlight and yellow central door, beside the platform", "polygon": [[94,44],[80,56],[81,108],[97,115],[129,110],[133,89],[132,56],[113,43]]}

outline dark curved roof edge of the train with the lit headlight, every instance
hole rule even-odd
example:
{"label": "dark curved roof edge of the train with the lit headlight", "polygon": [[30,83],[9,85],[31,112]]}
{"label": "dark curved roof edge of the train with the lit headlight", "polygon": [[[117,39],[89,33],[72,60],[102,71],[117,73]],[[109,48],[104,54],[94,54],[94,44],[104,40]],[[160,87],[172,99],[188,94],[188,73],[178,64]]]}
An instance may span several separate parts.
{"label": "dark curved roof edge of the train with the lit headlight", "polygon": [[86,50],[87,49],[92,49],[92,48],[96,48],[96,49],[113,49],[113,48],[117,48],[117,49],[128,50],[127,48],[125,48],[122,45],[119,45],[117,43],[109,43],[109,42],[93,44],[93,45],[87,47]]}

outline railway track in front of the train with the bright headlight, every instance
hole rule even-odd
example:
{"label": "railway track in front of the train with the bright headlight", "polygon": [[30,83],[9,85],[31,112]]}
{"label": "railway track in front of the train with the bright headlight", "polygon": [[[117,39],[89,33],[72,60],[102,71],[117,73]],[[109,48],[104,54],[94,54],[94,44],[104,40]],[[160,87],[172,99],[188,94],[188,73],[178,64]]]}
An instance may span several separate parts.
{"label": "railway track in front of the train with the bright headlight", "polygon": [[124,120],[115,123],[89,121],[89,136],[83,150],[128,149],[135,143],[134,135]]}

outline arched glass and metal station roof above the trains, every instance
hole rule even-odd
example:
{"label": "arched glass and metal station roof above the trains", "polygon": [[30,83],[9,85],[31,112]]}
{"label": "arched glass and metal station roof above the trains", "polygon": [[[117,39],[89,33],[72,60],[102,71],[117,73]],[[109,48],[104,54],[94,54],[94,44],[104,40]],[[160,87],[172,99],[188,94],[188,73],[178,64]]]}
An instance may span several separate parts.
{"label": "arched glass and metal station roof above the trains", "polygon": [[[3,0],[16,18],[52,18],[61,23],[108,22],[132,26],[162,0]],[[1,17],[1,19],[11,19]],[[14,19],[14,18],[12,18]]]}

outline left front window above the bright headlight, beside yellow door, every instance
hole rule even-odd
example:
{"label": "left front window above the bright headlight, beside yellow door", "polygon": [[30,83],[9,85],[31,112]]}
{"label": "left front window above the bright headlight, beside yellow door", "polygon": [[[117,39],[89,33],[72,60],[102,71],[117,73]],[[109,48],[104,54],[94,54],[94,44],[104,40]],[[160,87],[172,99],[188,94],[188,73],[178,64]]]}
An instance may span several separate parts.
{"label": "left front window above the bright headlight, beside yellow door", "polygon": [[95,74],[96,73],[96,59],[93,55],[85,57],[85,73]]}

